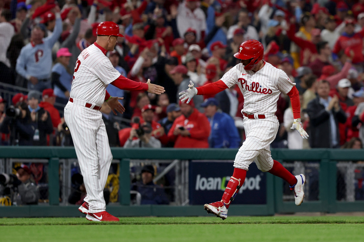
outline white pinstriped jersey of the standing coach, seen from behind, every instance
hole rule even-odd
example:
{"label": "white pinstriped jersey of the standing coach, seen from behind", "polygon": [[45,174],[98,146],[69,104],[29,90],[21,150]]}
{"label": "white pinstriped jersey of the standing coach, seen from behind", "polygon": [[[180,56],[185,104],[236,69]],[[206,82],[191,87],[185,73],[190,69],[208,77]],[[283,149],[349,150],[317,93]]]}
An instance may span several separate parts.
{"label": "white pinstriped jersey of the standing coach, seen from behind", "polygon": [[101,106],[107,85],[120,76],[105,54],[95,44],[81,52],[75,66],[71,98]]}

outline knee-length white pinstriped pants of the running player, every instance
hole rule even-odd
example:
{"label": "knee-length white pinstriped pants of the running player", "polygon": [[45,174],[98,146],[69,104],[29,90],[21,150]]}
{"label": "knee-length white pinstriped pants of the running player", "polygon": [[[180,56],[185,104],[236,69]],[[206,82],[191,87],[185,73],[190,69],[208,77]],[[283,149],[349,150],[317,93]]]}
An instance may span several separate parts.
{"label": "knee-length white pinstriped pants of the running player", "polygon": [[276,116],[270,119],[248,119],[244,117],[246,139],[234,160],[234,167],[248,171],[253,161],[258,169],[267,172],[273,167],[269,145],[276,138],[279,122]]}

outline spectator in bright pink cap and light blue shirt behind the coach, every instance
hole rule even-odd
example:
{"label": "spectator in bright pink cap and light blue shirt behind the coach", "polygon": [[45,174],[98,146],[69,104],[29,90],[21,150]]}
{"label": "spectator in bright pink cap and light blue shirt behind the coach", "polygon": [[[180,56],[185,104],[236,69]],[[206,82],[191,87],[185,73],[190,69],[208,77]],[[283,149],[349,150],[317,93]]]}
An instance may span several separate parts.
{"label": "spectator in bright pink cap and light blue shirt behind the coach", "polygon": [[57,63],[52,67],[51,77],[54,94],[64,99],[70,97],[71,91],[72,74],[71,70],[68,69],[71,56],[72,54],[67,48],[60,48],[57,52]]}

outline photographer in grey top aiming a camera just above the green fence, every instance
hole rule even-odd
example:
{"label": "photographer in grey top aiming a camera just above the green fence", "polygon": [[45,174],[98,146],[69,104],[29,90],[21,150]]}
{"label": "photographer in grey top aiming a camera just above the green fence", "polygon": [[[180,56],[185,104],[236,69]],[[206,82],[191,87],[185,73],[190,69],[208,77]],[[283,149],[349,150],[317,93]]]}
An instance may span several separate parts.
{"label": "photographer in grey top aiming a camera just above the green fence", "polygon": [[[137,137],[138,139],[134,139]],[[132,128],[129,139],[125,142],[124,148],[161,148],[161,141],[152,136],[152,126],[143,123],[138,129]]]}

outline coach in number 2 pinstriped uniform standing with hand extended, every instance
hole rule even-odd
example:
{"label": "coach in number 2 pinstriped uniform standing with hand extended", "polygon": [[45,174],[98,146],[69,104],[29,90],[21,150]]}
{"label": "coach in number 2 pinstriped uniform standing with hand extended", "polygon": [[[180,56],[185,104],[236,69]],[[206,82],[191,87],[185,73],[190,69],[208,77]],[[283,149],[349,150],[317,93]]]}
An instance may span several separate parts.
{"label": "coach in number 2 pinstriped uniform standing with hand extended", "polygon": [[164,87],[150,83],[134,82],[122,75],[106,57],[114,50],[119,26],[114,22],[100,23],[96,28],[97,40],[78,56],[71,86],[70,99],[64,108],[64,119],[70,128],[87,196],[80,212],[92,221],[119,221],[106,212],[103,189],[106,184],[112,155],[105,124],[99,112],[101,104],[107,101],[111,110],[123,113],[125,108],[106,91],[108,84],[130,91],[164,93]]}

